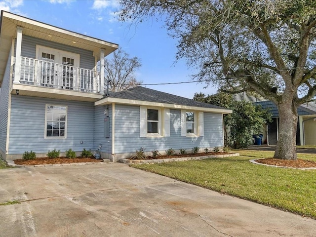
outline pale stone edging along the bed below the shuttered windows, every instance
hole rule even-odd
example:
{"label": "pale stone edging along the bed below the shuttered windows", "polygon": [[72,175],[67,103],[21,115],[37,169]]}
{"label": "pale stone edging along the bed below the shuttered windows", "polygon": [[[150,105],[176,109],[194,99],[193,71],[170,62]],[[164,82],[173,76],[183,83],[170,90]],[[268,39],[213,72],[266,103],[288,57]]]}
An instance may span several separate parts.
{"label": "pale stone edging along the bed below the shuttered windows", "polygon": [[232,153],[229,155],[210,155],[202,157],[182,157],[182,158],[164,158],[164,159],[120,159],[119,162],[124,164],[153,164],[153,163],[163,163],[170,161],[185,161],[185,160],[199,160],[208,158],[224,158],[224,157],[236,157],[239,153]]}

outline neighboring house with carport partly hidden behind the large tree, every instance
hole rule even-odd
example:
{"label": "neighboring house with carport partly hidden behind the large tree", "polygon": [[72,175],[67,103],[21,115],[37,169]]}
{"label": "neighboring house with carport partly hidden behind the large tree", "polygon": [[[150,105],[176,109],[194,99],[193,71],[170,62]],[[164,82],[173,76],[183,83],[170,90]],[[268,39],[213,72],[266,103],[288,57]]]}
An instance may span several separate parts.
{"label": "neighboring house with carport partly hidden behind the large tree", "polygon": [[[261,105],[272,113],[272,122],[264,126],[264,137],[269,145],[276,145],[278,139],[278,110],[276,104],[260,95],[254,95],[247,92],[233,95],[235,101],[252,102],[255,105]],[[298,122],[296,130],[297,145],[316,145],[316,104],[313,102],[305,103],[299,106]]]}

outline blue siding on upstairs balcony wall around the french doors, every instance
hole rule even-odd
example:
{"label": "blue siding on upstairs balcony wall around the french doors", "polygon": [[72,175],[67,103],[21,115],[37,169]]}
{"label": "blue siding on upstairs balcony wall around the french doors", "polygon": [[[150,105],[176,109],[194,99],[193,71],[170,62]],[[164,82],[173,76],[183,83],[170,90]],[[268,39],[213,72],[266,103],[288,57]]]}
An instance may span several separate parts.
{"label": "blue siding on upstairs balcony wall around the french doors", "polygon": [[80,54],[80,68],[93,69],[95,66],[95,57],[93,52],[82,48],[71,47],[68,45],[55,43],[47,40],[41,40],[29,36],[22,37],[21,56],[28,58],[36,58],[36,45],[41,45],[49,48],[59,49],[71,53]]}

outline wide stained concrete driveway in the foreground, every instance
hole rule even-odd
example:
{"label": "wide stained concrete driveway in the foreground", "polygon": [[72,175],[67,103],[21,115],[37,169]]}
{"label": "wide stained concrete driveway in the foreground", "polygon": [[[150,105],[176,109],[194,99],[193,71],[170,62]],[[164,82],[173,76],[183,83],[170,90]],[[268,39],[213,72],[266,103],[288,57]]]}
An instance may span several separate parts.
{"label": "wide stained concrete driveway in the foreground", "polygon": [[0,170],[1,237],[315,237],[316,220],[125,164]]}

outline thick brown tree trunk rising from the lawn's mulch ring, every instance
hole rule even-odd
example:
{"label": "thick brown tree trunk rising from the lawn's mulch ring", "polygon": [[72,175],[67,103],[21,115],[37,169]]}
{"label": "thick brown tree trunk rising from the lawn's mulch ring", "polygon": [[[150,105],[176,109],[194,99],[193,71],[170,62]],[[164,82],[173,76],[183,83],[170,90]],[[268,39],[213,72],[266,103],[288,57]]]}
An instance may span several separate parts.
{"label": "thick brown tree trunk rising from the lawn's mulch ring", "polygon": [[278,139],[274,158],[297,159],[296,154],[296,127],[297,127],[297,106],[291,101],[277,105],[279,114]]}

